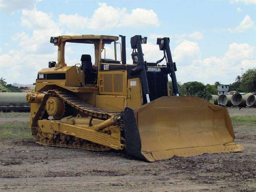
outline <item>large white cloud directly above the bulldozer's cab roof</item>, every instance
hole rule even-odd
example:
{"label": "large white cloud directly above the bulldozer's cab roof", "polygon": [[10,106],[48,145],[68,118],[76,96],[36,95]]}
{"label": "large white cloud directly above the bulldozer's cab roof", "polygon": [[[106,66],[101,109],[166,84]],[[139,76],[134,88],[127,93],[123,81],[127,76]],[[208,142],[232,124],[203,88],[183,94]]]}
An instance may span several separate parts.
{"label": "large white cloud directly above the bulldozer's cab roof", "polygon": [[114,8],[106,3],[98,3],[99,7],[91,18],[75,15],[59,15],[59,25],[69,28],[109,30],[114,27],[148,27],[160,26],[157,14],[153,10],[133,9],[131,14],[125,8]]}

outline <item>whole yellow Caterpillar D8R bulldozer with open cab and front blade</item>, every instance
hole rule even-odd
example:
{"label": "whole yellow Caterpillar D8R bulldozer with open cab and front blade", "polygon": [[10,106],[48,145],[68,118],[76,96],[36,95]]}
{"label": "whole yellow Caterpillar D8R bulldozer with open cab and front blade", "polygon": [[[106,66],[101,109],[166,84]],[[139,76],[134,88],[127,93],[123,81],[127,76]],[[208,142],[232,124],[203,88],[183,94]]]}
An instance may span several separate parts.
{"label": "whole yellow Caterpillar D8R bulldozer with open cab and front blade", "polygon": [[[121,37],[121,43],[117,42]],[[199,97],[179,96],[170,39],[157,38],[163,58],[144,61],[147,37],[131,38],[132,63],[126,63],[125,36],[51,37],[58,60],[38,72],[31,103],[30,129],[35,142],[49,146],[106,151],[125,150],[149,162],[203,153],[237,152],[226,108]],[[67,66],[65,44],[91,44],[91,55]],[[117,60],[120,44],[121,61]],[[113,45],[113,58],[103,58]],[[160,65],[162,61],[164,64]],[[168,75],[172,79],[169,90]]]}

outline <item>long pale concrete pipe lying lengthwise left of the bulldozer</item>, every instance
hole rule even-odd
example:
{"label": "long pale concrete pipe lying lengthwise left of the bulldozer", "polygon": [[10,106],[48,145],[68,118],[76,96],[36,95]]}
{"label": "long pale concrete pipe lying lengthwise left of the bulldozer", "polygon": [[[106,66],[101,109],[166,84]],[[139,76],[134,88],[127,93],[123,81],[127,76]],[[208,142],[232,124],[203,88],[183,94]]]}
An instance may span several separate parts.
{"label": "long pale concrete pipe lying lengthwise left of the bulldozer", "polygon": [[0,93],[0,106],[27,106],[27,93]]}

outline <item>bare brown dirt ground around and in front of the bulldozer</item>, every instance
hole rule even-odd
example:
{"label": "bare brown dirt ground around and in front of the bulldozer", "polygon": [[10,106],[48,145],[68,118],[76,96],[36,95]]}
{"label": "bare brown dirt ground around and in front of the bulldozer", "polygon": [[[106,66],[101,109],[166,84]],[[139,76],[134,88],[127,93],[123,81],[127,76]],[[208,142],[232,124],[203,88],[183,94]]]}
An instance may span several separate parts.
{"label": "bare brown dirt ground around and in front of the bulldozer", "polygon": [[[229,111],[230,116],[256,114],[256,108]],[[242,153],[153,163],[113,151],[0,140],[0,191],[256,191],[256,124],[235,126],[234,131],[235,142],[245,147]]]}

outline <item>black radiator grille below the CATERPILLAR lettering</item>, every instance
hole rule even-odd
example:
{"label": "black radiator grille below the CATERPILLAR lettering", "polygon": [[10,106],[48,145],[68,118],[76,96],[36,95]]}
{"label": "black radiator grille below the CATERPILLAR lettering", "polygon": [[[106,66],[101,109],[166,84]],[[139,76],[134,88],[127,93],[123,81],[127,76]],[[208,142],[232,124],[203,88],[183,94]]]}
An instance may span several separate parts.
{"label": "black radiator grille below the CATERPILLAR lettering", "polygon": [[[150,101],[154,101],[157,98],[168,95],[167,89],[167,75],[162,72],[148,72],[147,81],[149,88]],[[146,95],[143,94],[143,103],[147,103]]]}

